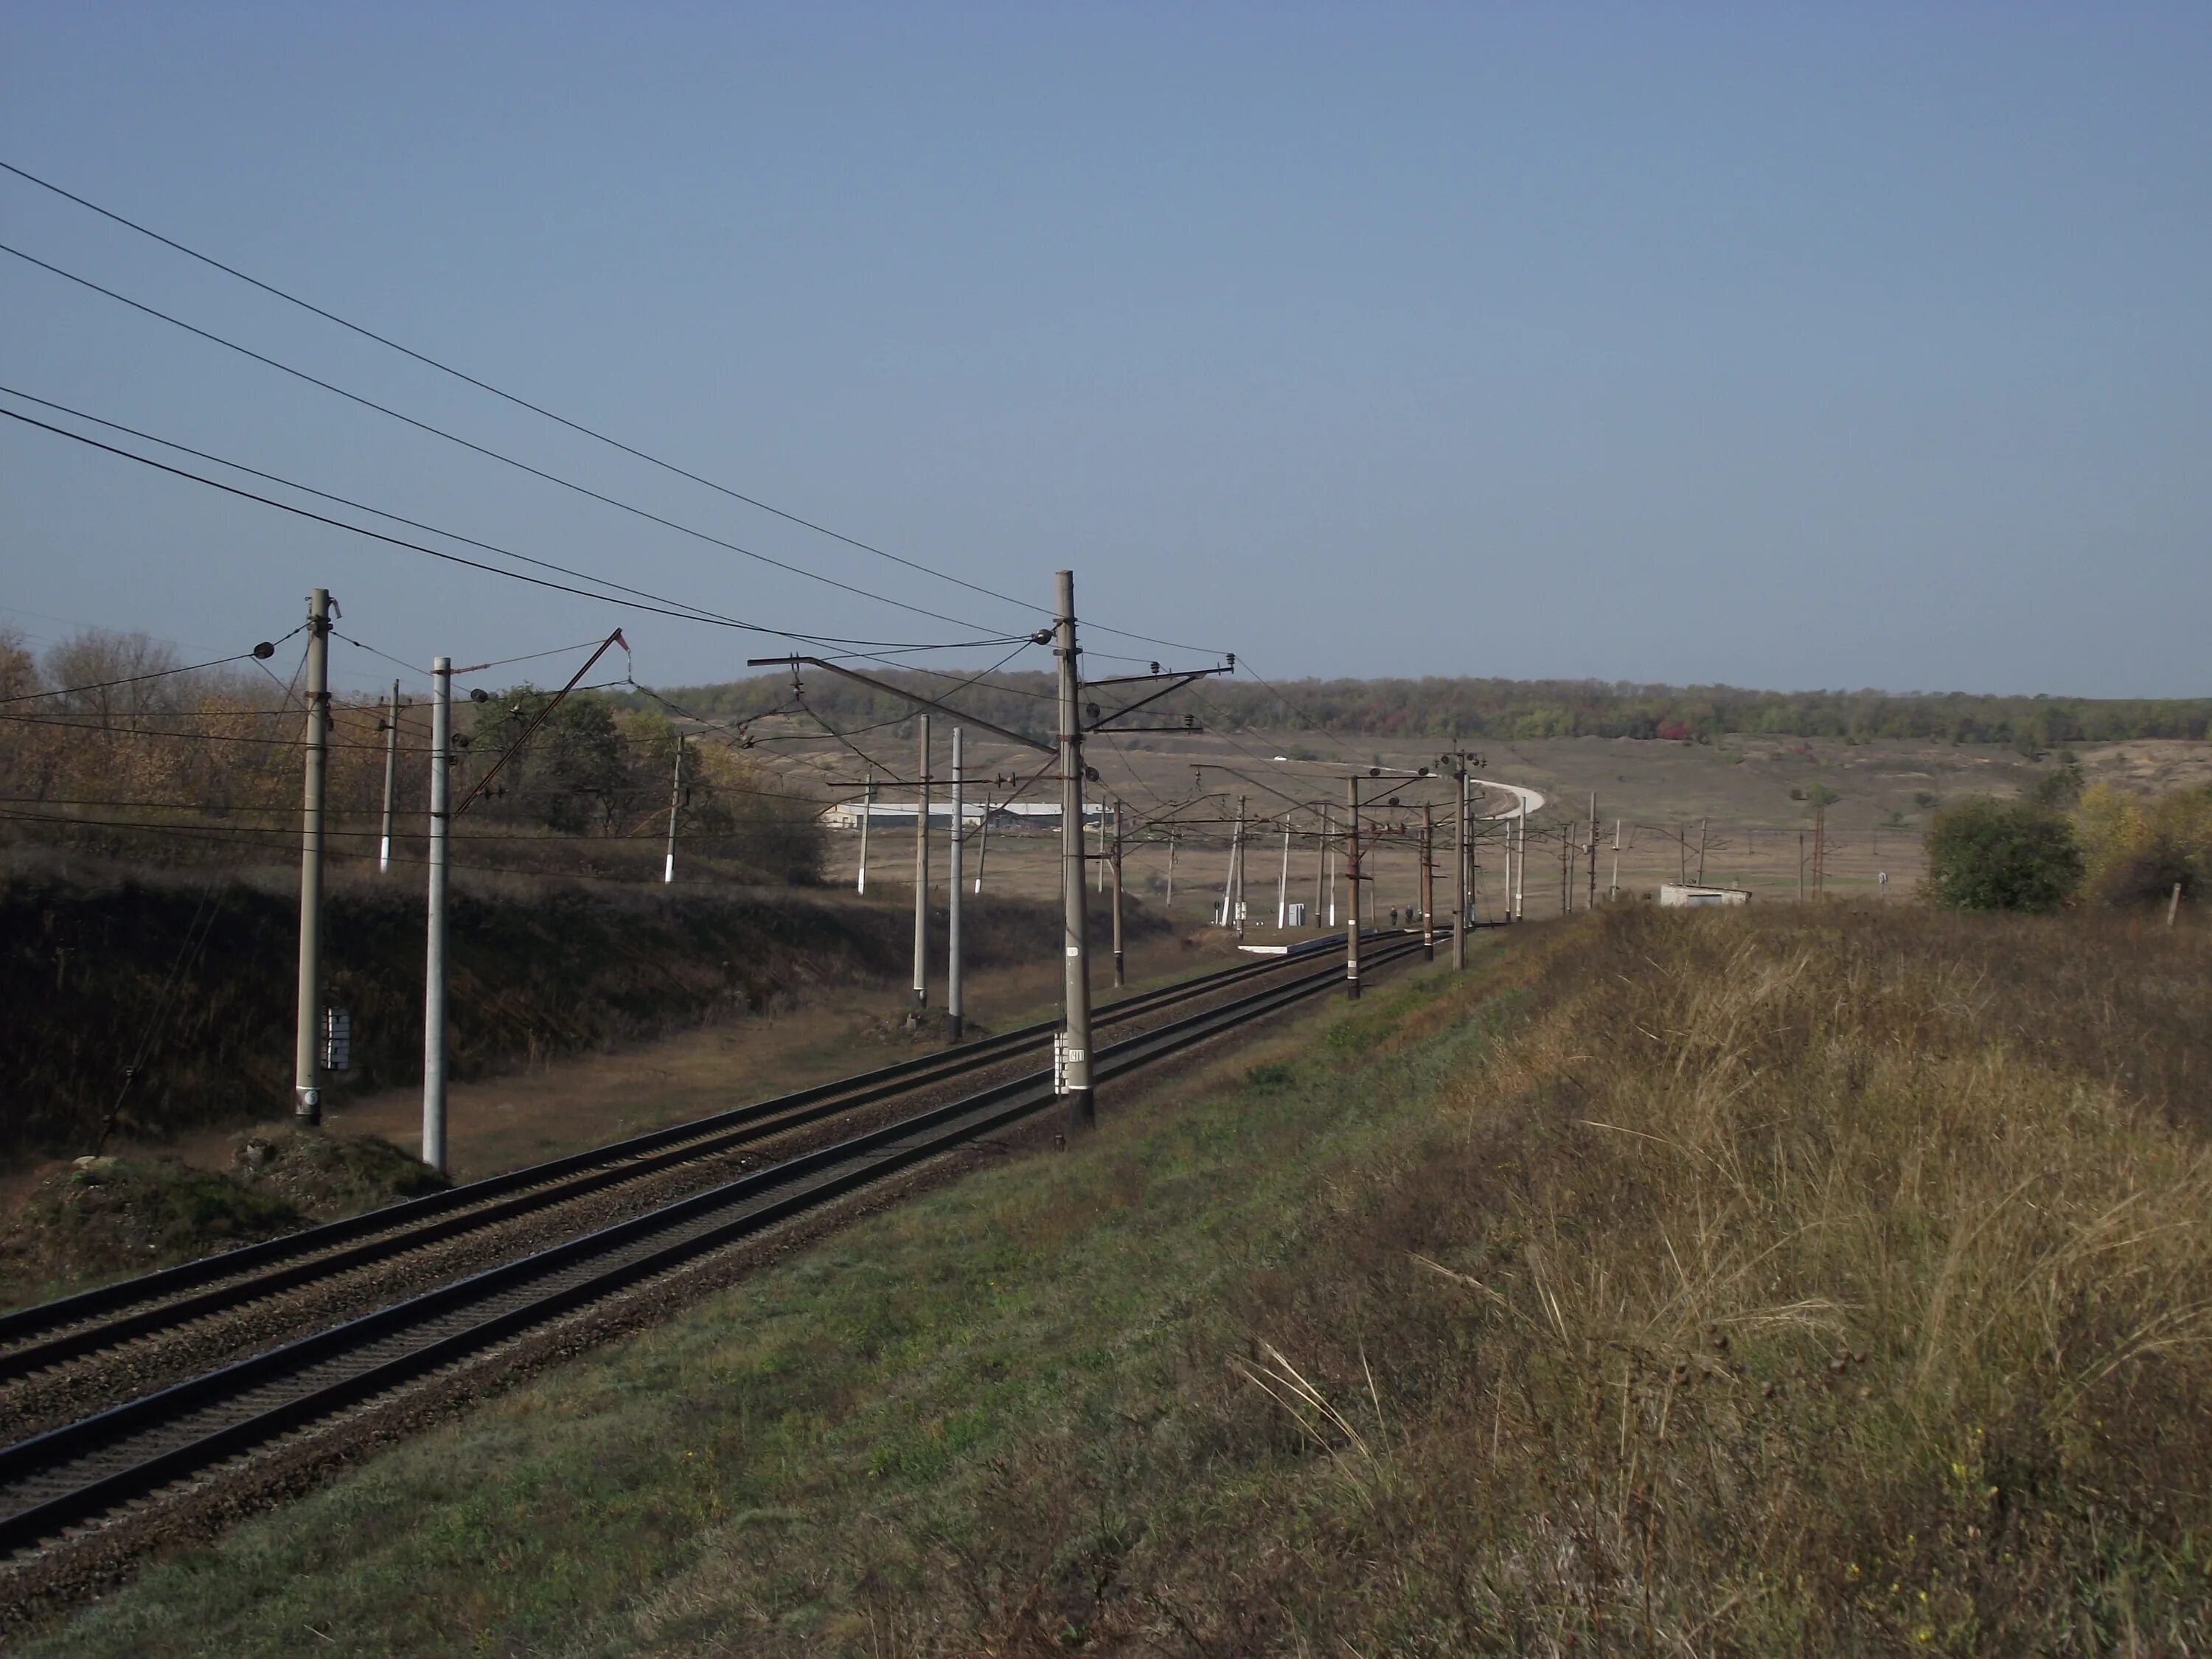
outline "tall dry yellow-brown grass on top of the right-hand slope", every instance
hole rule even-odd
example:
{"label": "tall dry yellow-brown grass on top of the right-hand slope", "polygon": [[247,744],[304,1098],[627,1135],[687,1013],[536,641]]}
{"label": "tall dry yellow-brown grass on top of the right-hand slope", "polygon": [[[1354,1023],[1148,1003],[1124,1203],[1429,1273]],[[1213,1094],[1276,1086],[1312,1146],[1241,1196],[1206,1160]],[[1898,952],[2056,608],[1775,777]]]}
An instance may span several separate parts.
{"label": "tall dry yellow-brown grass on top of the right-hand slope", "polygon": [[1232,1416],[1338,1473],[1186,1584],[1210,1639],[2203,1650],[2212,938],[1617,911],[1544,958],[1449,1148],[1248,1310]]}

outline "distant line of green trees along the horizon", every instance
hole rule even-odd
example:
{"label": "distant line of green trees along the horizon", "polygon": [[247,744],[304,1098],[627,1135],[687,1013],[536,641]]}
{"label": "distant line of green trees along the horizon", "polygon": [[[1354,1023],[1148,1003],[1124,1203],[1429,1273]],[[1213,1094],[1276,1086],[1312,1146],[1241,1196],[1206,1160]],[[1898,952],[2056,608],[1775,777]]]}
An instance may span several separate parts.
{"label": "distant line of green trees along the horizon", "polygon": [[[962,710],[1048,734],[1051,675],[964,675],[940,679],[880,672]],[[958,690],[953,690],[958,686]],[[712,717],[754,717],[794,708],[790,675],[763,675],[723,686],[670,692],[677,703]],[[838,728],[905,726],[911,708],[883,692],[810,672],[799,706]],[[2212,697],[2097,699],[1984,697],[1971,692],[1816,690],[1763,692],[1739,686],[1641,686],[1597,679],[1301,679],[1281,692],[1223,675],[1146,712],[1192,714],[1228,730],[1292,730],[1389,739],[1544,739],[1639,737],[1712,743],[1728,732],[1827,737],[1858,743],[1940,741],[2002,743],[2053,750],[2066,743],[2117,743],[2152,737],[2203,739],[2212,732]]]}

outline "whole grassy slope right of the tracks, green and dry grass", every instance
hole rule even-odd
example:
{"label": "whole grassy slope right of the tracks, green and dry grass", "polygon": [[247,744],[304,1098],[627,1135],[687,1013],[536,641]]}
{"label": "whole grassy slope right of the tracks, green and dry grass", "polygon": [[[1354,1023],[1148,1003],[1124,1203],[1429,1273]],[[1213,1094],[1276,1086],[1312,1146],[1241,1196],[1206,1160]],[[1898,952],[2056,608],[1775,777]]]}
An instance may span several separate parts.
{"label": "whole grassy slope right of the tracks, green and dry grass", "polygon": [[2212,940],[1515,945],[38,1650],[2201,1648]]}

